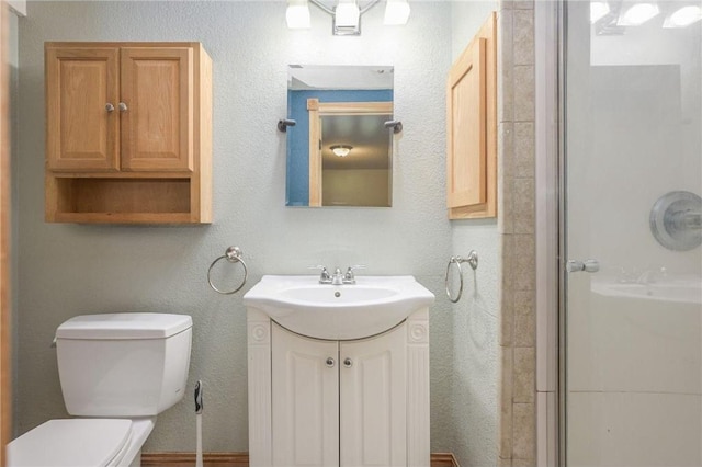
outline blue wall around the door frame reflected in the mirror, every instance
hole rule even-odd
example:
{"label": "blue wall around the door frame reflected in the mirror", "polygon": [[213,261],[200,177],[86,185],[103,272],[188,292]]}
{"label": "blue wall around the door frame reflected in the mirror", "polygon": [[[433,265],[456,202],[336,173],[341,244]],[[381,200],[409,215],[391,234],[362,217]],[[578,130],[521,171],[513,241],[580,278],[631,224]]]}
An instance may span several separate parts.
{"label": "blue wall around the door frame reflected in the mirror", "polygon": [[393,102],[392,89],[287,91],[287,117],[297,122],[287,127],[286,206],[309,205],[309,116],[307,99],[319,102]]}

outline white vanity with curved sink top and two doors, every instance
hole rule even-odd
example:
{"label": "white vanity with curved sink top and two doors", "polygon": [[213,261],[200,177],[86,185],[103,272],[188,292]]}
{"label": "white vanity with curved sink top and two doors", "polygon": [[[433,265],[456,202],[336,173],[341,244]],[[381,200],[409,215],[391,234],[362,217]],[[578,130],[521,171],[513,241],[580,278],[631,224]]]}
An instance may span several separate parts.
{"label": "white vanity with curved sink top and two doors", "polygon": [[411,276],[263,276],[245,296],[251,467],[429,467],[429,306]]}

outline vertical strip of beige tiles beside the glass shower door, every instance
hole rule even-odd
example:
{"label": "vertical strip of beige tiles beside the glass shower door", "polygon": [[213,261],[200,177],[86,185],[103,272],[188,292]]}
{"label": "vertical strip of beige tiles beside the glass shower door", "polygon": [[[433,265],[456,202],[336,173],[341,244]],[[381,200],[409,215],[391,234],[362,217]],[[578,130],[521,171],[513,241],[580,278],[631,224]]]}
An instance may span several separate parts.
{"label": "vertical strip of beige tiles beside the glass shower door", "polygon": [[535,459],[534,1],[500,2],[498,160],[502,286],[499,466]]}

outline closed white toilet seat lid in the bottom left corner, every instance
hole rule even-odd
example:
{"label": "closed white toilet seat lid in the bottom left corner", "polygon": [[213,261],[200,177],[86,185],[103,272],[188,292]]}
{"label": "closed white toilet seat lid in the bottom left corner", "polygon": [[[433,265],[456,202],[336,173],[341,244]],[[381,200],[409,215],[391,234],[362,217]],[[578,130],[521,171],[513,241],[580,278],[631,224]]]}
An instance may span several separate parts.
{"label": "closed white toilet seat lid in the bottom left corner", "polygon": [[8,467],[112,467],[131,437],[132,420],[49,420],[8,444]]}

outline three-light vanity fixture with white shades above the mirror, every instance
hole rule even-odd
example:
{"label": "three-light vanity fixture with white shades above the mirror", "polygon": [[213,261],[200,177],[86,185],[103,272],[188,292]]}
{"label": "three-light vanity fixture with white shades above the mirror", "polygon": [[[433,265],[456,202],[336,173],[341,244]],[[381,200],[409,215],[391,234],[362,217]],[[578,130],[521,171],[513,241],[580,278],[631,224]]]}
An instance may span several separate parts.
{"label": "three-light vanity fixture with white shades above the mirror", "polygon": [[[285,20],[287,27],[309,29],[309,3],[319,8],[332,18],[331,32],[336,36],[361,35],[361,16],[380,3],[381,0],[370,0],[360,5],[358,0],[338,0],[333,8],[327,7],[321,0],[287,0]],[[403,25],[409,20],[409,3],[407,0],[386,0],[386,25]]]}

